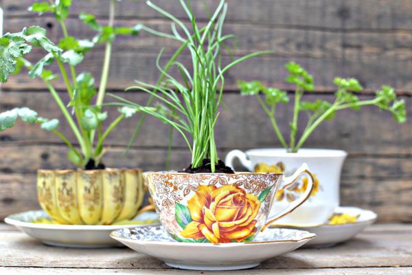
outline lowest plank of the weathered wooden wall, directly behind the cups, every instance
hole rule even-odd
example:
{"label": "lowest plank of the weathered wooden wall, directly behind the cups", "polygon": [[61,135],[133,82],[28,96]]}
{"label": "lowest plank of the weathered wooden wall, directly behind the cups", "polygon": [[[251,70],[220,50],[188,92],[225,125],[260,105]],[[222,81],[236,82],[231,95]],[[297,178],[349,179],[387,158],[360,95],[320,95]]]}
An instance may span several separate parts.
{"label": "lowest plank of the weathered wooden wall, directly behind the cups", "polygon": [[[38,208],[35,184],[39,168],[73,167],[65,157],[67,149],[59,145],[20,144],[1,148],[7,158],[0,159],[0,218],[14,212]],[[221,156],[227,150],[219,151]],[[107,166],[165,169],[166,148],[110,148]],[[174,148],[172,168],[181,170],[190,162],[189,153]],[[341,183],[343,206],[360,206],[378,213],[379,221],[412,221],[411,159],[397,157],[349,157]],[[239,167],[240,168],[240,167]]]}

